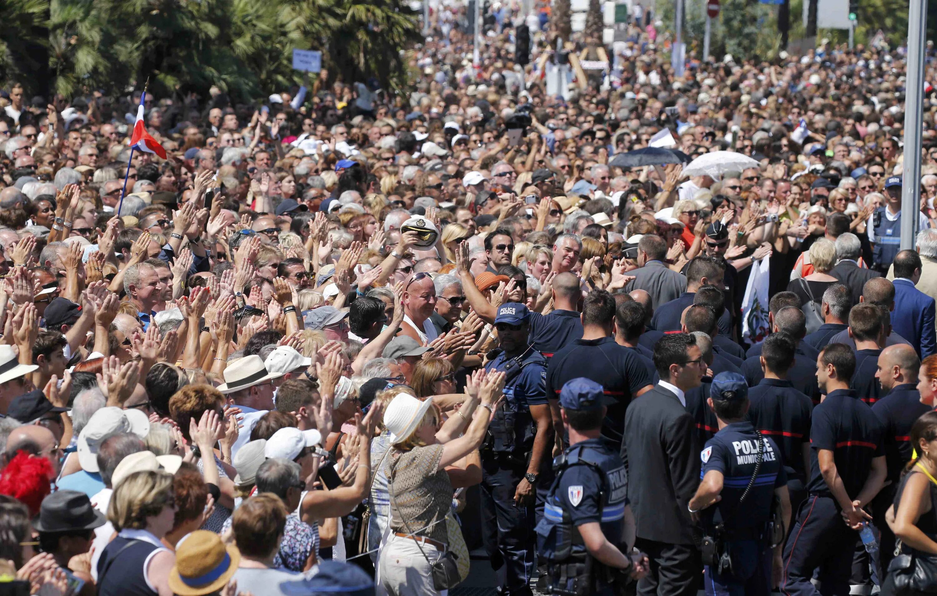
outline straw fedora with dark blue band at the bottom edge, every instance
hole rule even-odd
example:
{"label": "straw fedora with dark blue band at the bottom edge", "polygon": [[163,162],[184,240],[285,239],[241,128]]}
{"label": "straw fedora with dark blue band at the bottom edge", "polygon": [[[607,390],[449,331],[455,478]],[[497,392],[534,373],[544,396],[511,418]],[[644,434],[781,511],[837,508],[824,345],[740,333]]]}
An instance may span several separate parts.
{"label": "straw fedora with dark blue band at the bottom edge", "polygon": [[170,589],[178,596],[211,594],[228,585],[240,562],[237,546],[225,547],[214,531],[193,531],[176,547]]}

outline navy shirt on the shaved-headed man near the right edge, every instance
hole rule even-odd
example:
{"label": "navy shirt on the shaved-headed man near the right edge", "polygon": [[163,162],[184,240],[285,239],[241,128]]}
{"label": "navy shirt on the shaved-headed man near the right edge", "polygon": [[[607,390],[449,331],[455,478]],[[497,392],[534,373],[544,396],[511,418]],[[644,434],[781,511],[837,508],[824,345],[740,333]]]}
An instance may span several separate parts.
{"label": "navy shirt on the shaved-headed man near the right edge", "polygon": [[882,442],[885,443],[887,479],[897,483],[901,469],[911,459],[911,426],[930,406],[921,403],[921,394],[914,383],[895,385],[881,400],[872,405],[872,413],[882,422]]}

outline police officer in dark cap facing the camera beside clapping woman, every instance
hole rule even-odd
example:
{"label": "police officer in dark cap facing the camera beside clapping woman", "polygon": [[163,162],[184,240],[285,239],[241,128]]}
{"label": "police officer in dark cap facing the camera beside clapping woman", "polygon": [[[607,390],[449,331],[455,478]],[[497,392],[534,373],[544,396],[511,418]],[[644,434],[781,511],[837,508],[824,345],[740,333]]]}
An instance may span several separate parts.
{"label": "police officer in dark cap facing the camera beside clapping woman", "polygon": [[550,469],[547,454],[553,444],[544,387],[546,360],[528,343],[529,318],[528,308],[517,302],[498,308],[495,327],[500,350],[489,354],[494,357],[485,366],[506,375],[504,400],[482,449],[482,536],[505,594],[531,593],[530,531],[535,525],[537,488],[542,470]]}

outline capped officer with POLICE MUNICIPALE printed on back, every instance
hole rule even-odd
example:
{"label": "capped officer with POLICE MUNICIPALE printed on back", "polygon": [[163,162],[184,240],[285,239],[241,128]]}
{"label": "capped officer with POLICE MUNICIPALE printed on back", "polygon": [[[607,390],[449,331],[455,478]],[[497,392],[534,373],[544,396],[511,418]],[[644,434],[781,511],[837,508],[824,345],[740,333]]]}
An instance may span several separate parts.
{"label": "capped officer with POLICE MUNICIPALE printed on back", "polygon": [[[780,570],[782,530],[791,521],[781,450],[746,419],[748,389],[736,372],[720,372],[709,389],[707,402],[719,432],[700,454],[703,480],[689,507],[710,538],[703,547],[710,596],[769,594],[772,559]],[[772,558],[775,496],[781,500],[783,529]]]}

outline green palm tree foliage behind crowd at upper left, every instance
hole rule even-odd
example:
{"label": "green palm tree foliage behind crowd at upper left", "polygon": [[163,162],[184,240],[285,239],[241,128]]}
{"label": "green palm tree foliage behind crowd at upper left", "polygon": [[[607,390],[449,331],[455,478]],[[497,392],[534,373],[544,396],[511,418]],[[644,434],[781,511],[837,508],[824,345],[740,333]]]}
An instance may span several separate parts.
{"label": "green palm tree foliage behind crowd at upper left", "polygon": [[0,81],[71,96],[148,78],[157,94],[215,85],[245,100],[301,82],[301,49],[342,80],[394,86],[420,39],[403,0],[0,0]]}

